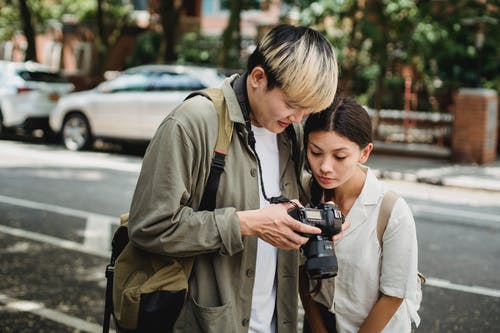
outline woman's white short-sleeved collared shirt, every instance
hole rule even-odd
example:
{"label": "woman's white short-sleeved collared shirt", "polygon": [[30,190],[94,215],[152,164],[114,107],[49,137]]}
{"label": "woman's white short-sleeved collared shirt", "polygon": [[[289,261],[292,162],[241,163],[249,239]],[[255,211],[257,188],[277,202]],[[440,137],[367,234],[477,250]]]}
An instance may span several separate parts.
{"label": "woman's white short-sleeved collared shirt", "polygon": [[360,167],[367,173],[366,181],[346,216],[351,226],[335,244],[339,271],[330,311],[336,315],[337,332],[357,332],[381,291],[405,299],[383,332],[410,332],[410,318],[418,316],[411,302],[418,262],[413,215],[406,201],[398,199],[384,232],[382,255],[377,219],[386,187],[367,167]]}

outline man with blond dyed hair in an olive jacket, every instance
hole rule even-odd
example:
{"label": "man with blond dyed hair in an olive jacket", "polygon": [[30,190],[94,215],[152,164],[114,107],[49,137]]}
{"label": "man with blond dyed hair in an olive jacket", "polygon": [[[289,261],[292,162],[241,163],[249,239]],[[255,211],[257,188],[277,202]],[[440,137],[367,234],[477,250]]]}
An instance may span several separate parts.
{"label": "man with blond dyed hair in an olive jacket", "polygon": [[159,126],[129,234],[146,251],[194,257],[175,332],[296,332],[298,249],[308,240],[298,232],[320,230],[290,217],[284,197],[299,197],[301,120],[330,105],[337,76],[331,44],[311,28],[279,25],[259,41],[245,74],[221,87],[234,135],[213,211],[197,207],[217,139],[214,104],[189,98]]}

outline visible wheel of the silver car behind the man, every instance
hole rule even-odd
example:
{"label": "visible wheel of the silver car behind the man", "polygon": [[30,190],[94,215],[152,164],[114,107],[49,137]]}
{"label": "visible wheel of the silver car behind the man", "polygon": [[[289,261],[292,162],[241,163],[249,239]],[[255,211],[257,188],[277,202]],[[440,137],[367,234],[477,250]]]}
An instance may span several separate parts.
{"label": "visible wheel of the silver car behind the man", "polygon": [[84,150],[92,143],[92,134],[87,119],[78,113],[70,114],[64,120],[62,141],[69,150]]}

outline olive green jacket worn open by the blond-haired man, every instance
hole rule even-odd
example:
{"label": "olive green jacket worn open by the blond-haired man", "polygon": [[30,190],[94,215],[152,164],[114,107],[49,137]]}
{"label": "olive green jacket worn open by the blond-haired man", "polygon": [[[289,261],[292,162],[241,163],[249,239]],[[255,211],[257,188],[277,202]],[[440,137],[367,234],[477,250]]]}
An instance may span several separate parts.
{"label": "olive green jacket worn open by the blond-haired man", "polygon": [[[242,237],[236,211],[259,208],[257,160],[231,80],[223,92],[235,123],[213,212],[197,212],[217,138],[217,113],[202,96],[183,102],[160,125],[144,157],[129,221],[131,241],[169,256],[195,256],[189,296],[176,332],[247,332],[257,238]],[[301,143],[301,129],[297,126]],[[300,132],[300,133],[299,133]],[[298,198],[292,145],[278,135],[280,186]],[[278,332],[297,331],[298,251],[279,250]]]}

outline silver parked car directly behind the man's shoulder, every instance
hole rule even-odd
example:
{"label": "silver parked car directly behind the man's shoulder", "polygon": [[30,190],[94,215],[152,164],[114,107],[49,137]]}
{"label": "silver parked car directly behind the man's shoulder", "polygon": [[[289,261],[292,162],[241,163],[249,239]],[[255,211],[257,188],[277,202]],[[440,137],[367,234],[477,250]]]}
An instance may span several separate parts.
{"label": "silver parked car directly behind the man's shoulder", "polygon": [[162,120],[193,90],[218,87],[214,68],[144,65],[96,88],[61,98],[50,116],[69,150],[89,148],[95,138],[149,141]]}

